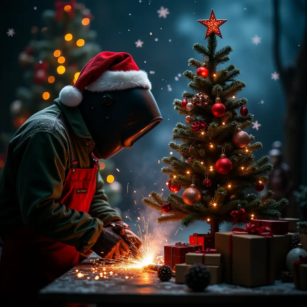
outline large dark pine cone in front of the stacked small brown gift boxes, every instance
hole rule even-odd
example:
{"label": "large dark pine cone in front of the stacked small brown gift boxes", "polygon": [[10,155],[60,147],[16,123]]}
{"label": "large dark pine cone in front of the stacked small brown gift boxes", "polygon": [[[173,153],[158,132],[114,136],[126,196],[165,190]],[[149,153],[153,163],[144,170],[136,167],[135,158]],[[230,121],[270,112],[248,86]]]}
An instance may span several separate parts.
{"label": "large dark pine cone in front of the stacked small brown gift boxes", "polygon": [[203,264],[193,264],[185,275],[185,283],[194,292],[204,291],[210,283],[210,272]]}

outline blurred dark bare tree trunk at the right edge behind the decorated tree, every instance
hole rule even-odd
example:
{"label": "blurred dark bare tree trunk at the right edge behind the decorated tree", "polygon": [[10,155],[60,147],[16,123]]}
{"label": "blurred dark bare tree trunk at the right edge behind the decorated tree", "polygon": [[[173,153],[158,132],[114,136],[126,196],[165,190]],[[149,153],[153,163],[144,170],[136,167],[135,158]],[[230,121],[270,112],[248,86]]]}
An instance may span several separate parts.
{"label": "blurred dark bare tree trunk at the right edge behind the decorated tree", "polygon": [[[273,6],[274,58],[286,98],[284,161],[291,168],[294,189],[296,189],[302,183],[302,166],[305,155],[306,98],[304,92],[307,72],[307,23],[296,63],[292,67],[284,68],[280,59],[280,1],[273,0]],[[291,217],[297,216],[297,210],[293,208],[294,206],[290,207],[292,207],[292,210],[289,208],[290,211],[294,211],[289,212]],[[287,215],[289,216],[289,214]]]}

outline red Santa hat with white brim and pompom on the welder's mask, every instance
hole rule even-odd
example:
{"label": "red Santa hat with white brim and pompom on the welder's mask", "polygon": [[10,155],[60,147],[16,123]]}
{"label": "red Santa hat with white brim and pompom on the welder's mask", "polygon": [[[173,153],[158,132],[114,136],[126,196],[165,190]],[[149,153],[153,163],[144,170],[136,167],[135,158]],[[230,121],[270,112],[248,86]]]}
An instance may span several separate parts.
{"label": "red Santa hat with white brim and pompom on the welder's mask", "polygon": [[151,89],[147,73],[140,70],[126,52],[100,52],[82,68],[74,86],[60,91],[61,102],[76,107],[82,101],[82,91],[92,92],[125,90],[143,87]]}

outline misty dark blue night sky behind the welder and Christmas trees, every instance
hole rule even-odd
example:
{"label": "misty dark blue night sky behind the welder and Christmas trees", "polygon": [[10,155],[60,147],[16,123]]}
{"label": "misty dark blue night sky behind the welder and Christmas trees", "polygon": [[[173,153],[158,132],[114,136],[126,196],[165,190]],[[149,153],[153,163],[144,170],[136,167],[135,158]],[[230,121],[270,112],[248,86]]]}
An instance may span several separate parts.
{"label": "misty dark blue night sky behind the welder and Christmas trees", "polygon": [[[304,1],[281,2],[282,61],[284,65],[291,65],[302,43]],[[2,130],[7,129],[8,107],[14,100],[14,90],[23,82],[17,55],[29,42],[30,28],[33,25],[44,26],[41,14],[45,9],[53,9],[53,3],[52,0],[27,0],[5,1],[2,4],[4,54],[1,58],[2,76],[6,76],[0,96]],[[196,42],[206,43],[206,28],[196,20],[208,19],[212,8],[217,19],[228,19],[220,27],[223,39],[218,38],[218,47],[232,46],[234,52],[230,55],[229,64],[233,63],[241,69],[240,79],[247,84],[239,97],[247,97],[249,112],[255,114],[254,121],[261,124],[258,131],[251,127],[246,130],[263,143],[264,148],[257,153],[257,157],[267,154],[274,140],[283,141],[284,93],[280,80],[271,79],[271,74],[276,71],[273,58],[272,1],[85,0],[83,3],[95,17],[91,29],[97,31],[97,42],[103,50],[128,52],[140,69],[154,72],[149,74],[152,93],[164,118],[133,149],[123,150],[114,157],[116,167],[120,170],[120,173],[115,174],[116,179],[122,183],[124,192],[128,182],[130,186],[128,195],[123,198],[126,202],[123,208],[136,210],[134,200],[138,204],[137,208],[142,208],[142,195],[148,195],[152,189],[161,191],[166,187],[167,176],[161,174],[162,164],[158,161],[169,155],[167,145],[171,141],[175,123],[184,121],[173,110],[173,99],[181,98],[182,92],[188,90],[187,80],[180,75],[178,77],[178,74],[189,69],[189,58],[202,60],[192,50],[192,45]],[[37,6],[37,10],[33,10],[34,6]],[[157,10],[161,6],[170,12],[166,18],[158,17]],[[6,35],[9,28],[15,30],[13,37]],[[261,38],[258,45],[252,43],[252,37],[256,35]],[[142,48],[136,48],[135,42],[138,39],[144,42]],[[192,229],[197,231],[197,226]],[[204,229],[199,231],[204,232]],[[180,239],[177,236],[176,239]],[[186,236],[182,240],[186,240]]]}

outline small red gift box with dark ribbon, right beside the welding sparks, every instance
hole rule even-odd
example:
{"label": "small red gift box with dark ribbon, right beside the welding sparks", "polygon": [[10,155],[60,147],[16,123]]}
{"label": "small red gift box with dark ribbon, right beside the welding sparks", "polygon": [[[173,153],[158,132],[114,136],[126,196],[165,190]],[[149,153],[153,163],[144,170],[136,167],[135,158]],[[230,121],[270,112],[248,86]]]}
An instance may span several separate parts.
{"label": "small red gift box with dark ribbon, right beside the welding sparks", "polygon": [[185,254],[201,249],[200,245],[177,242],[164,246],[164,264],[174,269],[175,264],[185,263]]}

